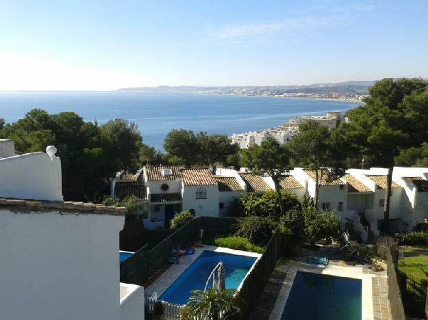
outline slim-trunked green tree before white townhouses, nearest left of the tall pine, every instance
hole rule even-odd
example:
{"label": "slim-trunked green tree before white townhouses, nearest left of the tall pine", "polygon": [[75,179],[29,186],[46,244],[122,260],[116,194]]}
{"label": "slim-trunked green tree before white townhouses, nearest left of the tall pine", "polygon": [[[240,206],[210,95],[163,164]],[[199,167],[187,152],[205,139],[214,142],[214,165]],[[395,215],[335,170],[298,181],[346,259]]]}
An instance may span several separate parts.
{"label": "slim-trunked green tree before white townhouses, nearest left of the tall pine", "polygon": [[327,126],[314,120],[303,122],[299,126],[299,134],[288,144],[294,164],[315,171],[315,206],[318,206],[321,183],[329,175],[326,168],[331,163],[331,145],[331,134]]}

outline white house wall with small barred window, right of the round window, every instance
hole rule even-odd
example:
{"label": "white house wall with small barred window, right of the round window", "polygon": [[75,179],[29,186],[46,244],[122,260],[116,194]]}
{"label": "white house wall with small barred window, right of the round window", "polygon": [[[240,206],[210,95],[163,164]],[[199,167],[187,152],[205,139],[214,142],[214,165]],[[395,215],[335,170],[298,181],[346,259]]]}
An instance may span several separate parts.
{"label": "white house wall with small barred window, right of the round window", "polygon": [[218,185],[201,186],[207,189],[206,199],[196,199],[198,186],[185,185],[183,187],[183,210],[194,209],[196,217],[218,217],[219,194]]}

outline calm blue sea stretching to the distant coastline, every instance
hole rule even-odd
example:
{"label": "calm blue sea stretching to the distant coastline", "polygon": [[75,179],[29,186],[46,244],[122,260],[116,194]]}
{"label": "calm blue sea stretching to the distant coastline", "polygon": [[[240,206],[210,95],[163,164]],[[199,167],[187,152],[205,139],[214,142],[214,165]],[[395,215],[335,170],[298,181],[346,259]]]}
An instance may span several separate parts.
{"label": "calm blue sea stretching to the distant coastline", "polygon": [[346,111],[355,103],[294,98],[136,92],[0,92],[0,118],[14,122],[40,108],[51,114],[75,111],[99,124],[114,118],[136,122],[143,142],[162,150],[172,129],[241,133],[284,124],[290,118]]}

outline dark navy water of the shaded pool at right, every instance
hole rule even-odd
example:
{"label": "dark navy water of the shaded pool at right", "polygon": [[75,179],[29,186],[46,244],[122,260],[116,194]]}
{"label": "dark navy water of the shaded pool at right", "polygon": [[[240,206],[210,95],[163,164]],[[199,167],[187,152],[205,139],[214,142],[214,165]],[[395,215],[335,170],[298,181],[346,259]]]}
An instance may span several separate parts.
{"label": "dark navy water of the shaded pool at right", "polygon": [[297,272],[281,320],[361,320],[362,280]]}

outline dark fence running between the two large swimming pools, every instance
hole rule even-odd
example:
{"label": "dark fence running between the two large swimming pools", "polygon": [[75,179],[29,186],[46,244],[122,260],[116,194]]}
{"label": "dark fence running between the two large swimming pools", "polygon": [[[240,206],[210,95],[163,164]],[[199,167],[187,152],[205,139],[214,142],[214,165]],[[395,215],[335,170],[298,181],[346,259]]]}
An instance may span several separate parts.
{"label": "dark fence running between the two large swimming pools", "polygon": [[251,311],[257,305],[264,286],[266,286],[270,274],[275,268],[279,256],[281,256],[281,238],[279,232],[273,234],[268,245],[266,245],[266,250],[242,283],[240,289],[240,297],[244,300],[242,319],[248,319]]}

